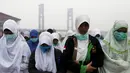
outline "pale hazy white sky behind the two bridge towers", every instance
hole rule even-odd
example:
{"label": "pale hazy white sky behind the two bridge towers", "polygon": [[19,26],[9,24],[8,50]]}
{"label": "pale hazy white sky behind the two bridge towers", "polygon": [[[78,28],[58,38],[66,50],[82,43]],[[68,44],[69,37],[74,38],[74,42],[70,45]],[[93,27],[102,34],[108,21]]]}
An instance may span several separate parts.
{"label": "pale hazy white sky behind the two bridge towers", "polygon": [[74,23],[76,16],[88,15],[90,29],[110,30],[115,20],[130,26],[129,0],[0,0],[0,12],[20,18],[21,28],[37,29],[39,4],[45,8],[45,29],[67,29],[67,8],[74,10]]}

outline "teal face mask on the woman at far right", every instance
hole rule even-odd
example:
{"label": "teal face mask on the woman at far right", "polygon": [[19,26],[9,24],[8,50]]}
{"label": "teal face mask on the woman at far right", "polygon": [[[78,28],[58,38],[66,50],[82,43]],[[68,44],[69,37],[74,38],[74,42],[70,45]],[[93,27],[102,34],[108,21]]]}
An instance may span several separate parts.
{"label": "teal face mask on the woman at far right", "polygon": [[124,33],[124,32],[118,32],[118,31],[115,31],[114,32],[114,37],[117,41],[123,41],[127,38],[127,34]]}

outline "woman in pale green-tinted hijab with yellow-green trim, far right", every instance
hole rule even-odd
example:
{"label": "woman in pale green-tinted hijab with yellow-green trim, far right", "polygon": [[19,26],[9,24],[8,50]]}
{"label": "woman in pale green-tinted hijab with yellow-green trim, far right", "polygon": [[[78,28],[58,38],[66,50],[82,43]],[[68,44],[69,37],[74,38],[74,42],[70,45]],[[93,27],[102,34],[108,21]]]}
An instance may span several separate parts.
{"label": "woman in pale green-tinted hijab with yellow-green trim, far right", "polygon": [[105,60],[100,73],[126,73],[130,66],[128,24],[125,21],[115,21],[103,42]]}

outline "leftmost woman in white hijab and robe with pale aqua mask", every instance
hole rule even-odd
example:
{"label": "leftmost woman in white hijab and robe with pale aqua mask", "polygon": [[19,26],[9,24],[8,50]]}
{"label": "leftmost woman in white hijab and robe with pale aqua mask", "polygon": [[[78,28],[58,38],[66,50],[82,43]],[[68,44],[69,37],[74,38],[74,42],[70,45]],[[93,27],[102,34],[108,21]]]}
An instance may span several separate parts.
{"label": "leftmost woman in white hijab and robe with pale aqua mask", "polygon": [[28,73],[29,46],[18,31],[14,20],[3,25],[4,35],[0,39],[0,73]]}

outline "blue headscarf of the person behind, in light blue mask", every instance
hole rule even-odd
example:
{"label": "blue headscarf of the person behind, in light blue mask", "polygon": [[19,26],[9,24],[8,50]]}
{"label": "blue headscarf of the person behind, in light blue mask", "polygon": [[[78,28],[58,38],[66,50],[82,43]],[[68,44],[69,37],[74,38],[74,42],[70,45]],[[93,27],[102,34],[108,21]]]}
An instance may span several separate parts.
{"label": "blue headscarf of the person behind, in light blue mask", "polygon": [[[32,30],[32,31],[30,32],[30,38],[31,38],[32,36],[38,38],[38,31],[37,31],[37,30]],[[29,41],[27,41],[27,43],[28,43],[28,45],[29,45],[29,47],[30,47],[31,52],[33,52],[33,51],[36,50],[39,41],[37,41],[37,42],[32,42],[31,40],[29,40]]]}

